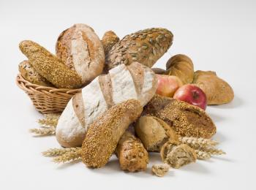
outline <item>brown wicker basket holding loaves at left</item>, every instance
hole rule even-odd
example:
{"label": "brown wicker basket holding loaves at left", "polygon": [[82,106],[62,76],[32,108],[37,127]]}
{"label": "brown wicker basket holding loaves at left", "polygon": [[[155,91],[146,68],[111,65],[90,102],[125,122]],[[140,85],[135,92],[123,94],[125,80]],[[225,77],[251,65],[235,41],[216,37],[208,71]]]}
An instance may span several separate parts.
{"label": "brown wicker basket holding loaves at left", "polygon": [[34,106],[40,113],[60,113],[64,110],[76,93],[81,89],[52,88],[29,83],[20,74],[16,83],[26,94],[29,95]]}

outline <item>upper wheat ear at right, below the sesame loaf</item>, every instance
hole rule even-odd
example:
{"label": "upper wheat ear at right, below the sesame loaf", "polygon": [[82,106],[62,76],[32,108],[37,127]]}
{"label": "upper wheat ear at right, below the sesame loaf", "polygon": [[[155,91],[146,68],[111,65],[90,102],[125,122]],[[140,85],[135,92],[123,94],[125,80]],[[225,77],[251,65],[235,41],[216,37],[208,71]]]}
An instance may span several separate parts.
{"label": "upper wheat ear at right, below the sesame loaf", "polygon": [[215,140],[208,140],[208,139],[197,138],[197,137],[178,137],[178,140],[195,149],[206,148],[208,146],[214,146],[218,144],[218,142]]}

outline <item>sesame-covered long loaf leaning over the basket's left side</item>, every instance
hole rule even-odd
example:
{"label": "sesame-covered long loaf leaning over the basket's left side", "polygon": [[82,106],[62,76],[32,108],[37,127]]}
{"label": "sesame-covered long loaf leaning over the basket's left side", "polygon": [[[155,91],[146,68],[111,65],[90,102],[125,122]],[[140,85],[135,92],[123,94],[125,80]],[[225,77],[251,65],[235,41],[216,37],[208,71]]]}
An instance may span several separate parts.
{"label": "sesame-covered long loaf leaning over the basket's left side", "polygon": [[20,42],[19,47],[39,75],[45,77],[57,88],[79,88],[81,86],[80,76],[44,47],[29,40]]}

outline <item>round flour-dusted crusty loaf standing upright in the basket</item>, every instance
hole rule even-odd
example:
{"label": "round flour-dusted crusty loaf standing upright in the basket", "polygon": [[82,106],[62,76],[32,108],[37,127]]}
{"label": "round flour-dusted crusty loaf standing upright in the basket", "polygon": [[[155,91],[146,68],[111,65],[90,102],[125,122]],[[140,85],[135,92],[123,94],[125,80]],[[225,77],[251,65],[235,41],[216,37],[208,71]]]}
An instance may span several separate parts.
{"label": "round flour-dusted crusty loaf standing upright in the basket", "polygon": [[78,73],[83,84],[102,74],[105,62],[102,42],[86,24],[75,24],[62,31],[56,42],[56,55]]}

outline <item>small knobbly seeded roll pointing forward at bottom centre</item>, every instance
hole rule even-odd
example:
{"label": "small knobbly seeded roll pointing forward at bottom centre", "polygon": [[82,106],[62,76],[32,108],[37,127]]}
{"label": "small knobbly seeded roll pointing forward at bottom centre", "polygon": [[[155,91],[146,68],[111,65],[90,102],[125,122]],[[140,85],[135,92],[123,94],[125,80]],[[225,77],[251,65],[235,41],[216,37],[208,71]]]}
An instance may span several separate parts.
{"label": "small knobbly seeded roll pointing forward at bottom centre", "polygon": [[143,143],[129,131],[124,132],[116,147],[121,170],[139,172],[146,170],[148,152]]}

